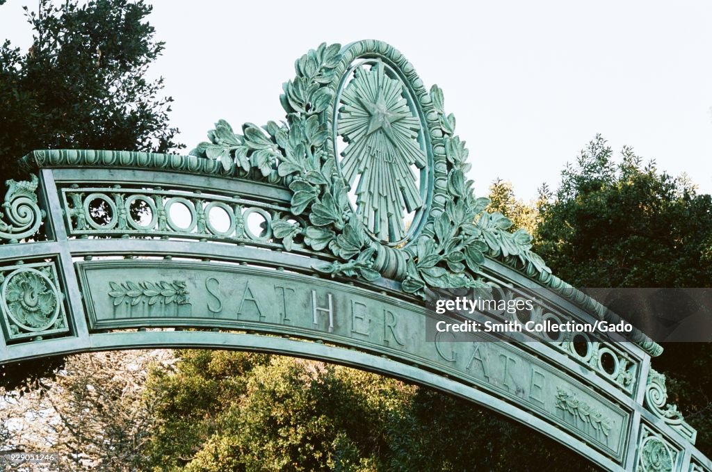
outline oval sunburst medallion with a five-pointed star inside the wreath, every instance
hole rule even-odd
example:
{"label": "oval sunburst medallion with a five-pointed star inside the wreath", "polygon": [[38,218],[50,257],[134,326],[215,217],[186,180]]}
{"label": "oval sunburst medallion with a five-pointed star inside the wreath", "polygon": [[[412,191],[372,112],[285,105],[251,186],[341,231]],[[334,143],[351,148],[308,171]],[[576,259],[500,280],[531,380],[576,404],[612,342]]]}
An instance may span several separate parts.
{"label": "oval sunburst medallion with a five-pointed star inside the wreath", "polygon": [[432,159],[409,80],[387,58],[354,61],[337,89],[337,167],[352,210],[372,238],[409,241],[429,206]]}

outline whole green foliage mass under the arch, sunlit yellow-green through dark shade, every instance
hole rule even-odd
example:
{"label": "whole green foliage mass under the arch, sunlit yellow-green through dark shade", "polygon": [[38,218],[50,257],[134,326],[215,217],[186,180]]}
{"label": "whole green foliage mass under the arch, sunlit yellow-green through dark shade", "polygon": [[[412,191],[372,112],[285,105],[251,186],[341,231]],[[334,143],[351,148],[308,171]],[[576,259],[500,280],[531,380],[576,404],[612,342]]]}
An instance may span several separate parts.
{"label": "whole green foliage mass under the arch, sunlit yellow-green through dark shade", "polygon": [[152,374],[155,471],[569,471],[583,458],[487,409],[346,367],[182,351]]}

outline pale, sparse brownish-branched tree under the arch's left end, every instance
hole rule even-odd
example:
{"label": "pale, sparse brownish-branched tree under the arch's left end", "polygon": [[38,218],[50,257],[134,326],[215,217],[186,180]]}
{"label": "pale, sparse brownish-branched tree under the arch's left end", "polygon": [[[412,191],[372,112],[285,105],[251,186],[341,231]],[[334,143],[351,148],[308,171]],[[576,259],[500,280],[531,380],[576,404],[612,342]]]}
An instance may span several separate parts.
{"label": "pale, sparse brownish-branched tree under the arch's left end", "polygon": [[141,470],[155,422],[145,379],[171,362],[166,350],[73,355],[26,394],[0,388],[1,449],[55,452],[61,471]]}

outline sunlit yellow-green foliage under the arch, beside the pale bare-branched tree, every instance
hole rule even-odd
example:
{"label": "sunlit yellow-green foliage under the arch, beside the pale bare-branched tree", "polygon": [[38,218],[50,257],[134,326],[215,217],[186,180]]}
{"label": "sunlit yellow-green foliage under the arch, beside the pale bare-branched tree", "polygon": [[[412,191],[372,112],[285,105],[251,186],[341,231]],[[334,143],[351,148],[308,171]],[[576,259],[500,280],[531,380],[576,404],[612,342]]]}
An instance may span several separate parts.
{"label": "sunlit yellow-green foliage under the arch, beside the pale bare-branched tree", "polygon": [[155,470],[371,470],[382,424],[407,387],[319,362],[244,352],[182,351],[154,372]]}

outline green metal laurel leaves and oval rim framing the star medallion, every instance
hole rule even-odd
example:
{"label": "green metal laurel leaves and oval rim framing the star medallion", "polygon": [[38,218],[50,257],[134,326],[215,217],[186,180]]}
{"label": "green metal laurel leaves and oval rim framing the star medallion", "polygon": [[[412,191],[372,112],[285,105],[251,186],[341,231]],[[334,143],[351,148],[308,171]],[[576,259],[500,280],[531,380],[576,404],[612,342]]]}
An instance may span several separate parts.
{"label": "green metal laurel leaves and oval rim framing the star medallion", "polygon": [[[330,140],[337,132],[330,133],[329,128],[335,84],[347,65],[371,56],[401,66],[410,74],[408,78],[414,78],[412,89],[428,115],[429,135],[434,138],[434,200],[446,197],[431,206],[422,231],[395,248],[370,238],[362,218],[354,217],[349,188]],[[246,123],[242,134],[236,134],[228,122],[220,120],[208,133],[209,142],[201,142],[192,151],[221,162],[226,172],[274,183],[281,180],[288,186],[293,192],[292,213],[308,215],[310,223],[273,221],[273,236],[288,251],[295,243],[315,251],[328,248],[337,261],[318,270],[365,280],[389,276],[401,281],[405,292],[418,295],[426,286],[485,286],[476,274],[486,254],[518,258],[527,272],[550,273],[542,258],[530,251],[531,236],[526,231],[511,233],[507,231],[510,219],[484,211],[489,200],[476,198],[473,182],[465,178],[470,168],[468,151],[465,142],[454,135],[455,117],[445,114],[442,91],[434,85],[426,92],[412,65],[398,51],[379,41],[361,41],[343,50],[339,44],[324,43],[296,61],[295,70],[296,77],[284,84],[281,95],[286,122],[268,122],[264,127]]]}

